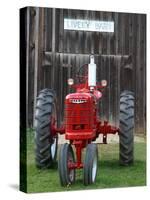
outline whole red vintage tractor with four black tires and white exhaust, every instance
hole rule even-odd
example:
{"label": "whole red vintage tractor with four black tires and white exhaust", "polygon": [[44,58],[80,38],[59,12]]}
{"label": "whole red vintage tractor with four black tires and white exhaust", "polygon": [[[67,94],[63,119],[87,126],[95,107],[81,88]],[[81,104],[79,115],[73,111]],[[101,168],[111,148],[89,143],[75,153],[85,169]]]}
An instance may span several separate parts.
{"label": "whole red vintage tractor with four black tires and white exhaust", "polygon": [[[84,69],[84,70],[83,70]],[[74,93],[65,98],[64,124],[58,127],[57,100],[55,92],[44,89],[37,97],[35,112],[36,165],[48,168],[56,161],[58,134],[65,134],[67,143],[61,145],[58,158],[60,183],[67,186],[75,181],[75,171],[83,168],[83,183],[92,184],[96,180],[98,168],[97,144],[93,143],[100,134],[107,143],[107,134],[118,134],[120,143],[120,164],[133,163],[134,96],[130,91],[120,95],[119,127],[99,118],[98,102],[107,81],[96,82],[96,64],[90,56],[90,64],[83,65],[78,76],[80,83],[68,79]],[[85,148],[85,156],[82,155]],[[75,155],[74,156],[74,150]]]}

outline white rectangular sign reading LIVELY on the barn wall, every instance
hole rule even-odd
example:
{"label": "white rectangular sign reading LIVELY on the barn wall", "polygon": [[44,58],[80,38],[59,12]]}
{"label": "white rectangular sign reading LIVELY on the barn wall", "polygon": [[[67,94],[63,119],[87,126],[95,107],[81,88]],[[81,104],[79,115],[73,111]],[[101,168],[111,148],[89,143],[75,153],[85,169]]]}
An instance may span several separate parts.
{"label": "white rectangular sign reading LIVELY on the barn wall", "polygon": [[64,29],[78,31],[114,32],[113,21],[64,19]]}

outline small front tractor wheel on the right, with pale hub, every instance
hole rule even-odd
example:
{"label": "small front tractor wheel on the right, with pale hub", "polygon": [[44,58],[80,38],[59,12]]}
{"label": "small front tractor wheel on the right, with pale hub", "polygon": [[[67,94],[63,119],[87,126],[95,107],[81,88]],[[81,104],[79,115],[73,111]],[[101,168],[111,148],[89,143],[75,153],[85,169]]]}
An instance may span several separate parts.
{"label": "small front tractor wheel on the right, with pale hub", "polygon": [[88,144],[83,168],[84,185],[95,182],[98,166],[98,149],[96,144]]}

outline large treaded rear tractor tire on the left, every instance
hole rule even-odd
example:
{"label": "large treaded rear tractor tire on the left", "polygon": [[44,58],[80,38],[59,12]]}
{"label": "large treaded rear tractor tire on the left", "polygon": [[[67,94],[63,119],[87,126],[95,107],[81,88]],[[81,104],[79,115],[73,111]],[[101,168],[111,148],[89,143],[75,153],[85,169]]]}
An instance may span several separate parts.
{"label": "large treaded rear tractor tire on the left", "polygon": [[38,168],[49,168],[56,160],[58,136],[53,135],[52,125],[57,126],[56,95],[53,90],[40,91],[35,110],[35,160]]}

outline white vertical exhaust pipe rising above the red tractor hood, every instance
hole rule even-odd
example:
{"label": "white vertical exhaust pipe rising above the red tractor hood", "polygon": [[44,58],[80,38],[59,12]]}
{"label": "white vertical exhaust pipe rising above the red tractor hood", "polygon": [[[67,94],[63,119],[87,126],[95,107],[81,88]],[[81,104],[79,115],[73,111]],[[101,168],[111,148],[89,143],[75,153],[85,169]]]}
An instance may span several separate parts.
{"label": "white vertical exhaust pipe rising above the red tractor hood", "polygon": [[96,64],[94,63],[94,56],[90,56],[90,64],[88,64],[88,86],[93,90],[96,86]]}

